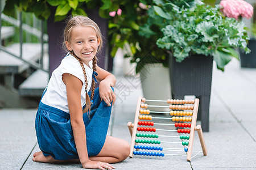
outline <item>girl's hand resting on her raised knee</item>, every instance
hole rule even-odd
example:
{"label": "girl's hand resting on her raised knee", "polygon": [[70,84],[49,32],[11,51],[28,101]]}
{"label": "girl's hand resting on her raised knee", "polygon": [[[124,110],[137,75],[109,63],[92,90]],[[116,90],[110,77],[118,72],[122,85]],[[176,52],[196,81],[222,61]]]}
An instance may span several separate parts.
{"label": "girl's hand resting on her raised knee", "polygon": [[102,80],[100,82],[99,93],[100,93],[101,100],[103,99],[106,102],[106,104],[108,104],[108,106],[111,105],[111,101],[113,101],[112,104],[115,103],[115,99],[116,99],[115,93],[112,90],[107,80]]}

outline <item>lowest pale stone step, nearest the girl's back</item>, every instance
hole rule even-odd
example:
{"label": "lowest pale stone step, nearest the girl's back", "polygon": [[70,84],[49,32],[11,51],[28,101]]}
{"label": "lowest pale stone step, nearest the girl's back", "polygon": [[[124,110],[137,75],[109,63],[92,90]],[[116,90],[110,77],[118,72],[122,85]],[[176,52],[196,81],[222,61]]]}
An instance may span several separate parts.
{"label": "lowest pale stone step, nearest the girl's back", "polygon": [[39,97],[43,94],[49,82],[49,74],[42,70],[36,70],[19,86],[20,96]]}

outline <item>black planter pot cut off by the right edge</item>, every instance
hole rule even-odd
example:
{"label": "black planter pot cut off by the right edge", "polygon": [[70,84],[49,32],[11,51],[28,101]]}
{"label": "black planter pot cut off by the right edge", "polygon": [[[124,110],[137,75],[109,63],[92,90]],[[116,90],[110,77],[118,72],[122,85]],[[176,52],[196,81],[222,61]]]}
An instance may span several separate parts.
{"label": "black planter pot cut off by the right edge", "polygon": [[247,47],[251,50],[249,54],[240,50],[241,67],[256,68],[256,39],[249,40]]}

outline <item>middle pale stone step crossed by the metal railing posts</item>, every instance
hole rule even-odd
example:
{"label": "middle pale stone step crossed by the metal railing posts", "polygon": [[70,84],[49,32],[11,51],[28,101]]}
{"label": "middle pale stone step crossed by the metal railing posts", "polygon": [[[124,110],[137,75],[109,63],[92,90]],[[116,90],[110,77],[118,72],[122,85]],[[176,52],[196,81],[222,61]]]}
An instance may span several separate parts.
{"label": "middle pale stone step crossed by the metal railing posts", "polygon": [[[12,44],[7,49],[15,54],[20,55],[19,43]],[[44,53],[48,53],[48,44],[44,44]],[[28,67],[28,63],[23,62],[19,58],[11,56],[6,52],[0,51],[0,74],[16,74],[22,73]],[[22,58],[29,62],[36,62],[41,56],[41,44],[40,43],[23,43],[22,45]]]}

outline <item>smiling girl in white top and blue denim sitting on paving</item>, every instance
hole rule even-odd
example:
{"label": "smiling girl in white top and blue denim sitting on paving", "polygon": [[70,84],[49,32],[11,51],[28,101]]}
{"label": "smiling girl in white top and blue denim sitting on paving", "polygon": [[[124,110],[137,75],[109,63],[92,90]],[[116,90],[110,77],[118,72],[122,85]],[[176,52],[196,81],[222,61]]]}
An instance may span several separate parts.
{"label": "smiling girl in white top and blue denim sitting on paving", "polygon": [[[130,148],[128,142],[106,135],[116,80],[97,65],[96,54],[102,48],[100,29],[88,17],[72,17],[64,29],[63,44],[69,53],[53,71],[36,114],[42,151],[33,160],[113,169],[109,163],[125,160]],[[95,89],[96,79],[100,85]]]}

